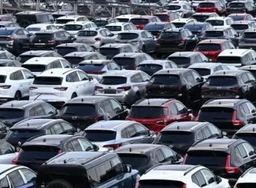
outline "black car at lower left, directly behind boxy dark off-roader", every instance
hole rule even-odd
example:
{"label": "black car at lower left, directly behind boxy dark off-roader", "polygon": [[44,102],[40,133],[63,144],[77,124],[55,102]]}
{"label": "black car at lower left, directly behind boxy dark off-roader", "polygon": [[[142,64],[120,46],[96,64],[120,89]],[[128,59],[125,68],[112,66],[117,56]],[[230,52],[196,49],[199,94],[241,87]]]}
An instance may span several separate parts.
{"label": "black car at lower left, directly behind boxy dark off-roader", "polygon": [[21,146],[20,153],[12,161],[37,171],[41,164],[62,152],[98,151],[98,146],[79,135],[38,135],[28,139]]}

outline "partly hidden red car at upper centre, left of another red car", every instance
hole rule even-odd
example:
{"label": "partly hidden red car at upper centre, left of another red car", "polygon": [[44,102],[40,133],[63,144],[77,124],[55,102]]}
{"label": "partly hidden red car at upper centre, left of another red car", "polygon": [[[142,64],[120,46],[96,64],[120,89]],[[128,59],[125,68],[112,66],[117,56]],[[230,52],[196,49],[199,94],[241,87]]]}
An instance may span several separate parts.
{"label": "partly hidden red car at upper centre, left of another red car", "polygon": [[139,30],[143,30],[143,28],[151,22],[162,22],[159,17],[154,15],[137,15],[130,19],[131,23],[133,23]]}

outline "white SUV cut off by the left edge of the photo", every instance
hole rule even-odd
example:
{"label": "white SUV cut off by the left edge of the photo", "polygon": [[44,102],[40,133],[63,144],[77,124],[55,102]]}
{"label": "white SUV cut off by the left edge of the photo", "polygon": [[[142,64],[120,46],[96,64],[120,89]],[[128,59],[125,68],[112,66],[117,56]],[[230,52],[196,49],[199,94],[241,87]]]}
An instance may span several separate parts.
{"label": "white SUV cut off by the left edge of the photo", "polygon": [[23,67],[0,67],[0,103],[29,97],[34,75]]}

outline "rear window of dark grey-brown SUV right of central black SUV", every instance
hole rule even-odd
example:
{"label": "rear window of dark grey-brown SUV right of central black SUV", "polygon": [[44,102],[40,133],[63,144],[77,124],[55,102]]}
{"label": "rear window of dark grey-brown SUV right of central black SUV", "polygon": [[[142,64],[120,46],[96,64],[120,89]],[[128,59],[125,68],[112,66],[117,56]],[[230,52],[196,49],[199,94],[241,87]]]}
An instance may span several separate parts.
{"label": "rear window of dark grey-brown SUV right of central black SUV", "polygon": [[236,80],[236,77],[210,77],[209,79],[207,79],[206,84],[212,85],[212,86],[236,85],[237,80]]}

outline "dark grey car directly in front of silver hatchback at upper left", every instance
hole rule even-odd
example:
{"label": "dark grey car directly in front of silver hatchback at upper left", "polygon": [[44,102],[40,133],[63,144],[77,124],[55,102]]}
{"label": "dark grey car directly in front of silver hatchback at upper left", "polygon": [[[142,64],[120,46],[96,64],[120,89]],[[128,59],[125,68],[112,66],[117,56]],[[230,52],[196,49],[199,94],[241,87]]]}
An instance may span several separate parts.
{"label": "dark grey car directly in front of silver hatchback at upper left", "polygon": [[66,44],[59,44],[55,47],[55,52],[60,54],[61,56],[65,56],[71,52],[94,52],[94,48],[89,46],[88,44],[82,43],[66,43]]}

